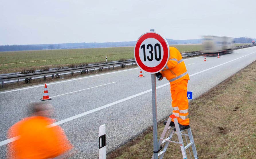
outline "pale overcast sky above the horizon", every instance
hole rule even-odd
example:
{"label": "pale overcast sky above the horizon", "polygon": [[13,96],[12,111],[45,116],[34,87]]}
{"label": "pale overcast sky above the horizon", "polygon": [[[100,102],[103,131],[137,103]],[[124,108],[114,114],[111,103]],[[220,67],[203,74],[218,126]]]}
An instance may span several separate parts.
{"label": "pale overcast sky above the horizon", "polygon": [[255,0],[0,0],[0,45],[256,38]]}

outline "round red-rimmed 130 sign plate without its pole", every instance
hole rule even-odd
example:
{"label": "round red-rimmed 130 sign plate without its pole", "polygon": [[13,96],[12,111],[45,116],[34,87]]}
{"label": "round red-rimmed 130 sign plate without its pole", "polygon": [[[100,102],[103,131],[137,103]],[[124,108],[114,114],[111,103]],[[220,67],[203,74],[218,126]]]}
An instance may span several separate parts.
{"label": "round red-rimmed 130 sign plate without its pole", "polygon": [[163,70],[169,60],[168,42],[156,32],[146,32],[136,42],[134,57],[142,70],[155,74]]}

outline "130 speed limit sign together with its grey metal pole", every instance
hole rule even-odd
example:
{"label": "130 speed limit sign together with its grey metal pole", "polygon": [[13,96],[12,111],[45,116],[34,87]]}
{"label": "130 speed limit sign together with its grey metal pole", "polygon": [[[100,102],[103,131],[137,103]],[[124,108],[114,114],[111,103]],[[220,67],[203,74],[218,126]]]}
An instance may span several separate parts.
{"label": "130 speed limit sign together with its grey metal pole", "polygon": [[156,77],[155,73],[163,70],[169,60],[169,44],[159,33],[146,32],[142,34],[134,47],[134,58],[136,63],[147,73],[151,74],[152,88],[152,115],[153,115],[153,152],[154,159],[158,158],[157,143],[157,100],[156,100]]}

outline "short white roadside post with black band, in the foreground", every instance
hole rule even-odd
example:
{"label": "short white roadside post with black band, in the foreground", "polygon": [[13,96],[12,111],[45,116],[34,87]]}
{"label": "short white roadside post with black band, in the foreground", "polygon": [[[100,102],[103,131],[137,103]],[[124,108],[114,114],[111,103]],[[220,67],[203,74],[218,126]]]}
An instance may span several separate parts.
{"label": "short white roadside post with black band, in the foreground", "polygon": [[106,159],[106,126],[99,127],[99,159]]}

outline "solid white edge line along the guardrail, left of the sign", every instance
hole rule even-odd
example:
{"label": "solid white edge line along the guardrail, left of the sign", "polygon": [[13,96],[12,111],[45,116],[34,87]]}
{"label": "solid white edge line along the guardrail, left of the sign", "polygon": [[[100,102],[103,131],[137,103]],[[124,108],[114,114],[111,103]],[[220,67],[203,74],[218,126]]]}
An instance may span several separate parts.
{"label": "solid white edge line along the guardrail, left of the sign", "polygon": [[[87,76],[87,77],[82,77],[82,78],[69,79],[69,80],[65,80],[65,81],[48,83],[47,85],[52,85],[52,84],[62,83],[62,82],[75,81],[75,80],[79,80],[79,79],[85,79],[85,78],[91,78],[91,77],[97,77],[97,76],[103,76],[103,75],[114,74],[114,73],[118,73],[118,72],[130,71],[130,70],[135,70],[135,69],[139,69],[139,68],[132,68],[132,69],[128,69],[128,70],[115,71],[115,72],[110,72],[110,73],[106,73],[106,74],[99,74],[99,75],[94,75],[94,76]],[[0,92],[0,94],[8,93],[8,92],[13,92],[13,91],[20,91],[20,90],[30,89],[30,88],[35,88],[35,87],[42,87],[42,86],[44,86],[44,84],[43,85],[36,85],[36,86],[32,86],[32,87],[25,87],[25,88],[20,88],[20,89],[14,89],[14,90],[11,90],[11,91],[4,91],[4,92]]]}

